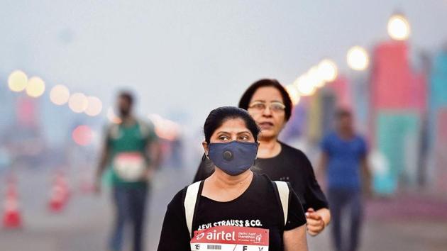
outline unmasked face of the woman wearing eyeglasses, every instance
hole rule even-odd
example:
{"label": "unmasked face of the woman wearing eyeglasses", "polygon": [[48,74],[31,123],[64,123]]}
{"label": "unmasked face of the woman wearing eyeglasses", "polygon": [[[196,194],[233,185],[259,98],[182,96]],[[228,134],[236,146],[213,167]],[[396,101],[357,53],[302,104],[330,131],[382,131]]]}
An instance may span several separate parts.
{"label": "unmasked face of the woman wearing eyeglasses", "polygon": [[261,139],[276,139],[285,121],[285,105],[275,87],[260,87],[251,97],[248,113],[261,128]]}

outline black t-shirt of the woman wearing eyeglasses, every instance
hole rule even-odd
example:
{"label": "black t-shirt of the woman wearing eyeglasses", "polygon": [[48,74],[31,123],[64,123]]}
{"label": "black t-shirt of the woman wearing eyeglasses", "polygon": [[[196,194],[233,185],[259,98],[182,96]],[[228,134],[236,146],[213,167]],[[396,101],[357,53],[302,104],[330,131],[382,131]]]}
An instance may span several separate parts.
{"label": "black t-shirt of the woman wearing eyeglasses", "polygon": [[[318,210],[329,208],[326,196],[316,182],[314,169],[304,152],[280,142],[279,155],[267,159],[258,158],[255,161],[253,172],[267,174],[272,180],[289,182],[302,202],[304,211],[308,208]],[[194,182],[206,179],[214,172],[211,160],[202,159],[199,164]]]}

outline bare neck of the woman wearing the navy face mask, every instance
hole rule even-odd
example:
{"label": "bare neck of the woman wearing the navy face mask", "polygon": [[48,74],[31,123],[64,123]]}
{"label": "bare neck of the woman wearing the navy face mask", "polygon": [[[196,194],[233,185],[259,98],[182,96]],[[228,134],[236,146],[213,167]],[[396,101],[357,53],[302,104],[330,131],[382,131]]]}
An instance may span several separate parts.
{"label": "bare neck of the woman wearing the navy face mask", "polygon": [[249,184],[253,179],[253,172],[247,170],[242,174],[231,176],[223,172],[221,169],[216,168],[213,176],[213,184],[219,189],[239,189],[241,186]]}

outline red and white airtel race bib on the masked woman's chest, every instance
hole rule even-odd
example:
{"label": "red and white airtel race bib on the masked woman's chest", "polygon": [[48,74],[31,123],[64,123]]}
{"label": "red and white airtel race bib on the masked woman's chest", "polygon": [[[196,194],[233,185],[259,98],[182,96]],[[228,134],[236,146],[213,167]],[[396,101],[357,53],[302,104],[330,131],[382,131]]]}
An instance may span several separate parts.
{"label": "red and white airtel race bib on the masked woman's chest", "polygon": [[194,231],[192,251],[268,251],[268,229],[216,226]]}

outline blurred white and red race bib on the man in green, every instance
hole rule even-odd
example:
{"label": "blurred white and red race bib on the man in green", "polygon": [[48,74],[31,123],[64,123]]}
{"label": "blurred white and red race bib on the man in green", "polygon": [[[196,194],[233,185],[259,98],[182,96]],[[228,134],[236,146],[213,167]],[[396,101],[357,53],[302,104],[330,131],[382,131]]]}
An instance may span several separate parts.
{"label": "blurred white and red race bib on the man in green", "polygon": [[121,152],[114,157],[113,166],[118,177],[137,182],[143,178],[146,162],[140,152]]}

